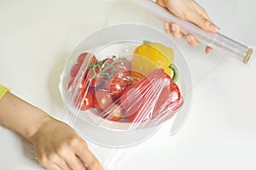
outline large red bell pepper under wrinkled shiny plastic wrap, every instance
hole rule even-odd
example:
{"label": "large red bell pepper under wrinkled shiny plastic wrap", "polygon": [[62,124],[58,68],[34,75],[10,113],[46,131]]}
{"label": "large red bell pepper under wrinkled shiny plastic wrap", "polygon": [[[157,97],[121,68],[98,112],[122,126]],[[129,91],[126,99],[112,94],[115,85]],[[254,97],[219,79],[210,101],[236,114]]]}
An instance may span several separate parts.
{"label": "large red bell pepper under wrinkled shiny plastic wrap", "polygon": [[156,69],[125,89],[119,104],[130,122],[145,122],[157,117],[162,122],[183,105],[183,98],[172,78],[163,69]]}

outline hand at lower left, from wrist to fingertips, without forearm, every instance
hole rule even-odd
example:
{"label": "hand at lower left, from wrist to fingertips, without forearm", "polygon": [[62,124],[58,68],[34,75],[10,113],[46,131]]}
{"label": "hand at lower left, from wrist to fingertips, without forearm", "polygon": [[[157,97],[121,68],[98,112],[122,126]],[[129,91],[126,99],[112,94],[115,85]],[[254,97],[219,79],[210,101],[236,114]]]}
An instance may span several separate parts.
{"label": "hand at lower left, from wrist to fingertips, without forearm", "polygon": [[52,117],[38,128],[31,141],[39,164],[48,170],[102,170],[73,128]]}

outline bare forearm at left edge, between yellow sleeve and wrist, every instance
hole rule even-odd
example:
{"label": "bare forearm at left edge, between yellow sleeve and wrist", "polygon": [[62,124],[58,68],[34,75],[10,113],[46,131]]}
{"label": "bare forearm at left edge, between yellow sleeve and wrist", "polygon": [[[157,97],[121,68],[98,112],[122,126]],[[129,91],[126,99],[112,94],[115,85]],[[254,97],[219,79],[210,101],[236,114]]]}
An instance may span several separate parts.
{"label": "bare forearm at left edge, between yellow sleeve and wrist", "polygon": [[0,124],[30,141],[49,119],[52,117],[14,94],[7,92],[0,99]]}

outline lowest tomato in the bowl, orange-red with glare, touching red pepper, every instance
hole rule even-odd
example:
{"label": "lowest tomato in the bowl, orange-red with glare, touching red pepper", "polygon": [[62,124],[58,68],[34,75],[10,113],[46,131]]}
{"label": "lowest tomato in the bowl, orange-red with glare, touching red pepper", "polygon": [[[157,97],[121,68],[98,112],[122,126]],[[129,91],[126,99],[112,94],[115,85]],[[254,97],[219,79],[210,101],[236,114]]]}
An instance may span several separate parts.
{"label": "lowest tomato in the bowl, orange-red with glare, touching red pepper", "polygon": [[109,111],[104,115],[104,118],[107,118],[110,121],[119,121],[122,117],[124,117],[125,111],[119,105],[111,105],[108,108]]}

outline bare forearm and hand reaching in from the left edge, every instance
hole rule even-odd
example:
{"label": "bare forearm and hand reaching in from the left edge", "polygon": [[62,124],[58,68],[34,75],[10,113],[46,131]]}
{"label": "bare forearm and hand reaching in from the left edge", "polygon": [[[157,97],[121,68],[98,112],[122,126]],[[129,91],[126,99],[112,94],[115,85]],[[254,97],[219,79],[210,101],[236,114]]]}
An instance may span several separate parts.
{"label": "bare forearm and hand reaching in from the left edge", "polygon": [[9,92],[0,99],[0,124],[32,142],[47,170],[102,170],[72,127]]}

